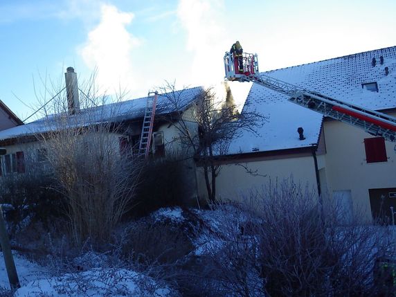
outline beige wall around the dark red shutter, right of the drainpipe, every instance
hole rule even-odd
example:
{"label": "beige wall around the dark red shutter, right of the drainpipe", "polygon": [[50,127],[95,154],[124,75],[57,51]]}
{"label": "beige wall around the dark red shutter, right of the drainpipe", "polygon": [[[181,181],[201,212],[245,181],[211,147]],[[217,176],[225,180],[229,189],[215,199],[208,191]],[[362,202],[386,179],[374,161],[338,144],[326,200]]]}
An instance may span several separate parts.
{"label": "beige wall around the dark red shutter, right of the drainpipe", "polygon": [[334,191],[350,190],[353,206],[370,218],[368,189],[396,187],[395,143],[385,142],[387,162],[367,163],[363,141],[374,136],[336,120],[325,121],[324,133],[327,154],[323,183],[327,184],[330,195]]}

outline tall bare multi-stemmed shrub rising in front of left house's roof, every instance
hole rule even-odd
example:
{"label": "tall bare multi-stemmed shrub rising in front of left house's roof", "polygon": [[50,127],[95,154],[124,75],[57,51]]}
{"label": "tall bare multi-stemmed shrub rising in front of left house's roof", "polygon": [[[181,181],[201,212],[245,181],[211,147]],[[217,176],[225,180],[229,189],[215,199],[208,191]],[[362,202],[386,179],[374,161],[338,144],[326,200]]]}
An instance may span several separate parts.
{"label": "tall bare multi-stemmed shrub rising in front of left house's roof", "polygon": [[37,135],[66,197],[76,244],[108,240],[132,207],[141,172],[141,161],[120,152],[123,125],[114,119],[126,94],[121,92],[105,105],[109,96],[98,95],[94,76],[84,85],[85,91],[80,91],[83,108],[75,114],[68,110],[66,92],[53,92],[57,96],[50,110],[43,109],[44,128]]}

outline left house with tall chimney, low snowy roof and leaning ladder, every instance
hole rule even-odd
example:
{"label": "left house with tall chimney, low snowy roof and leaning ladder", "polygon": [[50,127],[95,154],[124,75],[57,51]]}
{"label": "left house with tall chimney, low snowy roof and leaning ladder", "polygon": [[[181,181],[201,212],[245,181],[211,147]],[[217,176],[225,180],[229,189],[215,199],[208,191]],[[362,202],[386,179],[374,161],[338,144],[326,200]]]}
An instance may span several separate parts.
{"label": "left house with tall chimney, low snowy roof and leaning ladder", "polygon": [[[120,154],[138,150],[147,97],[104,105],[91,104],[91,107],[82,108],[80,99],[83,99],[84,93],[75,91],[78,90],[78,84],[74,69],[69,67],[65,75],[66,87],[69,89],[60,94],[62,102],[67,102],[64,109],[61,108],[62,112],[0,131],[0,147],[6,147],[8,151],[6,156],[1,157],[2,174],[25,172],[27,161],[36,165],[45,162],[46,147],[39,139],[64,128],[78,129],[111,123],[116,127],[109,130],[117,144],[114,150]],[[152,134],[155,154],[164,155],[180,148],[175,147],[177,128],[174,123],[191,115],[201,90],[201,87],[193,87],[158,95]],[[89,140],[86,142],[89,143]]]}

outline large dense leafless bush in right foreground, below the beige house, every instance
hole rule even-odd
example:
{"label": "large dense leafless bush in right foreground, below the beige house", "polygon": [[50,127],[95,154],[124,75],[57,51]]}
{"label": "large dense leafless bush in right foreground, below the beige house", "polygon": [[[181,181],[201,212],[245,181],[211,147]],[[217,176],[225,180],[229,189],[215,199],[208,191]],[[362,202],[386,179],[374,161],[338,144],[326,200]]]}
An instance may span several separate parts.
{"label": "large dense leafless bush in right foreground, below the beige house", "polygon": [[354,213],[338,222],[330,199],[293,181],[255,193],[262,224],[258,262],[271,296],[362,296],[377,294],[374,263],[393,252],[386,227]]}

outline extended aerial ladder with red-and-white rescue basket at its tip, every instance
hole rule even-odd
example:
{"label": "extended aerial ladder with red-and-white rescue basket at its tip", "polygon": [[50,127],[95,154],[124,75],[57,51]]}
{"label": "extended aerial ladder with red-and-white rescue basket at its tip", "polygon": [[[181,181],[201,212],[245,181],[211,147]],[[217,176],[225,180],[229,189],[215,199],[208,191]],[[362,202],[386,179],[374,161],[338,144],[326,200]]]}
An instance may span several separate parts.
{"label": "extended aerial ladder with red-and-white rescue basket at its tip", "polygon": [[262,87],[288,96],[290,102],[317,111],[323,116],[359,127],[373,136],[382,136],[387,141],[396,141],[396,118],[393,116],[330,98],[259,73],[257,54],[243,53],[242,61],[243,71],[239,71],[238,62],[241,60],[238,61],[231,53],[226,52],[225,80],[260,84]]}

